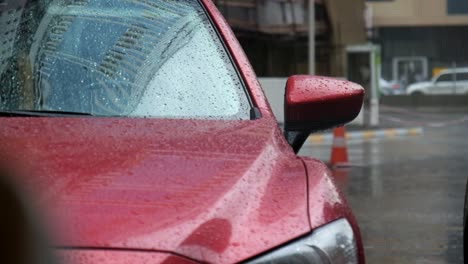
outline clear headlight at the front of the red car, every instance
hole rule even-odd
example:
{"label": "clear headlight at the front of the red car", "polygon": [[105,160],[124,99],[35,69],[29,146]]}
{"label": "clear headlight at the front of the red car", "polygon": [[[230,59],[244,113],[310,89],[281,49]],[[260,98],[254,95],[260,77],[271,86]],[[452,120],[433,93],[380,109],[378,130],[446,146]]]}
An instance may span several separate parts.
{"label": "clear headlight at the front of the red car", "polygon": [[358,263],[353,230],[345,219],[317,228],[307,237],[248,261],[247,264]]}

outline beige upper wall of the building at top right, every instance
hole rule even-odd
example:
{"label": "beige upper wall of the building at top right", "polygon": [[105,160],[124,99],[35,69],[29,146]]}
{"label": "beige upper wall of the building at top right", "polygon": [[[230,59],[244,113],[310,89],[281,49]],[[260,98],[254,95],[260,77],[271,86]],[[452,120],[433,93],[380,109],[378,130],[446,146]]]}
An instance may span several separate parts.
{"label": "beige upper wall of the building at top right", "polygon": [[368,2],[374,27],[467,25],[468,15],[449,15],[447,0]]}

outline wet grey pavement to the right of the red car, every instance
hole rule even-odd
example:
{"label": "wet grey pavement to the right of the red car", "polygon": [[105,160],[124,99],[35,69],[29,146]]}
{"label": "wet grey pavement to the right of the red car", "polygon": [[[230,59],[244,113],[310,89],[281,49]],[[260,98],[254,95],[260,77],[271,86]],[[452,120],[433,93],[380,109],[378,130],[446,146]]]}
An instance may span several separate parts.
{"label": "wet grey pavement to the right of the red car", "polygon": [[[468,111],[385,109],[382,126],[423,135],[348,142],[349,170],[335,171],[359,221],[368,263],[463,263]],[[330,158],[330,144],[301,155]]]}

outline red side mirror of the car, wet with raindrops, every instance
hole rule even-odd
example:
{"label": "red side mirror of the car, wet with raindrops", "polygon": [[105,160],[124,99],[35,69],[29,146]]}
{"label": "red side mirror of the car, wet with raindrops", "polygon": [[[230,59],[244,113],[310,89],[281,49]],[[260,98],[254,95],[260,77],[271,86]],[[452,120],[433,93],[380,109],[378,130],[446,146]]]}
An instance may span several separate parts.
{"label": "red side mirror of the car, wet with raindrops", "polygon": [[361,111],[364,89],[355,83],[309,75],[286,82],[284,130],[297,153],[310,133],[344,125]]}

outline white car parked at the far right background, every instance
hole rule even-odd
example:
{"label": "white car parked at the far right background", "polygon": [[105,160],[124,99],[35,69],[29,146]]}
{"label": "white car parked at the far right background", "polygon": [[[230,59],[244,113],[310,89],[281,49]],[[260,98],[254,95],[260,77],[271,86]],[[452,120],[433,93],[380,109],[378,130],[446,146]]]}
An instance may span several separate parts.
{"label": "white car parked at the far right background", "polygon": [[468,94],[468,68],[444,70],[429,82],[409,85],[406,93],[409,95]]}

